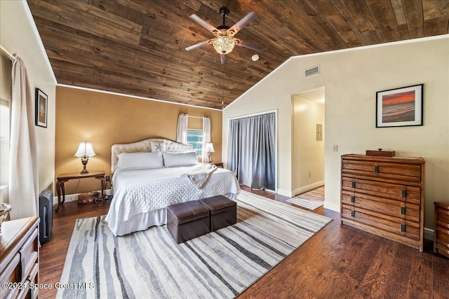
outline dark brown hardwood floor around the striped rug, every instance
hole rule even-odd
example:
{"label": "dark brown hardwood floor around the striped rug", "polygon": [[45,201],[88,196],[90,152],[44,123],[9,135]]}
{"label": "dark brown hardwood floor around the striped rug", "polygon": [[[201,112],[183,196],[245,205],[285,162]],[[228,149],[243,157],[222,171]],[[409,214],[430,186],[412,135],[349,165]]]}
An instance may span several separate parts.
{"label": "dark brown hardwood floor around the striped rug", "polygon": [[[286,202],[288,197],[243,190]],[[294,205],[294,204],[291,204]],[[107,214],[109,202],[67,202],[53,214],[51,241],[43,244],[40,283],[60,280],[76,218]],[[424,252],[340,224],[335,211],[314,212],[333,218],[325,228],[274,267],[243,298],[449,298],[449,259],[436,256],[433,243]],[[41,290],[54,298],[56,290]]]}

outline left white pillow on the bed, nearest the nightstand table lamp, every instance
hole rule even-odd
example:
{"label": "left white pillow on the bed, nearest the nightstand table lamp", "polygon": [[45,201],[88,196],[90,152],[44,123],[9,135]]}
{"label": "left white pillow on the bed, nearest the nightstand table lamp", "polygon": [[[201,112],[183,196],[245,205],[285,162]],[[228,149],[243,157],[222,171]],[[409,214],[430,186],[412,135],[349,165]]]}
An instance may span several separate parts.
{"label": "left white pillow on the bed, nearest the nightstand table lamp", "polygon": [[118,169],[152,169],[163,167],[161,152],[121,153],[118,157]]}

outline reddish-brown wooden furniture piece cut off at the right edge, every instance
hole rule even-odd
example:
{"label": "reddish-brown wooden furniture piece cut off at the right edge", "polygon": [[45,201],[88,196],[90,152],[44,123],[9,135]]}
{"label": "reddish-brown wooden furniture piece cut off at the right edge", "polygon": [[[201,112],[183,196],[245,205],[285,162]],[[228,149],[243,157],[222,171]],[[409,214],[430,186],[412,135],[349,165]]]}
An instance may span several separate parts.
{"label": "reddish-brown wooden furniture piece cut off at the right edge", "polygon": [[434,202],[434,252],[449,258],[449,202]]}

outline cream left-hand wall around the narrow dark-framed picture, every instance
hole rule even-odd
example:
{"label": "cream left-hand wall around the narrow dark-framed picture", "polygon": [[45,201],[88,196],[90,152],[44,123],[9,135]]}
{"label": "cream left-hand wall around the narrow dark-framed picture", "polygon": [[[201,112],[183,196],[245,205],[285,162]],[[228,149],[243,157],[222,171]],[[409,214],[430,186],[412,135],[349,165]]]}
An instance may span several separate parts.
{"label": "cream left-hand wall around the narrow dark-framed picture", "polygon": [[50,185],[53,188],[55,180],[55,83],[41,51],[40,38],[34,31],[34,21],[29,18],[26,1],[1,0],[0,27],[1,46],[22,58],[32,88],[39,88],[48,95],[47,127],[36,127],[40,192]]}

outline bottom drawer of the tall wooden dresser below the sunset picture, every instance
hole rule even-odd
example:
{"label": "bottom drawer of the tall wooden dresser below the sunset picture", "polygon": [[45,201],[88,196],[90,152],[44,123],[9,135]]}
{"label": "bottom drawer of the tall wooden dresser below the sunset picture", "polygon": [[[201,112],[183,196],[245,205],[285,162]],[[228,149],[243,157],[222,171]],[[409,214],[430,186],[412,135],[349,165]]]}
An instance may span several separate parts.
{"label": "bottom drawer of the tall wooden dresser below the sunset picture", "polygon": [[420,239],[420,223],[391,217],[378,213],[377,211],[342,204],[342,218],[370,225],[373,228],[394,233],[395,235],[401,235],[415,240]]}

